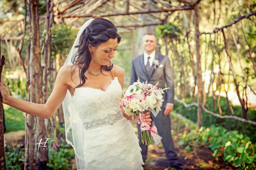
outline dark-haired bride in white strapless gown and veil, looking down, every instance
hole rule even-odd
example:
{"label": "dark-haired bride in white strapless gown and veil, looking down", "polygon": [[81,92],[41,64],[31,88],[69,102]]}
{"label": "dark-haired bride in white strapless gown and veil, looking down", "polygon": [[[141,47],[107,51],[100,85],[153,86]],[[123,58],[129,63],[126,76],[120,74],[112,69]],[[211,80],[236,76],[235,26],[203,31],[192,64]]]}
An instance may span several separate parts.
{"label": "dark-haired bride in white strapless gown and veil, looking down", "polygon": [[[33,116],[49,119],[63,102],[66,140],[77,169],[143,169],[132,116],[119,107],[124,70],[110,62],[120,40],[109,20],[84,23],[45,104],[14,98],[0,83],[3,103]],[[149,113],[143,119],[150,125]]]}

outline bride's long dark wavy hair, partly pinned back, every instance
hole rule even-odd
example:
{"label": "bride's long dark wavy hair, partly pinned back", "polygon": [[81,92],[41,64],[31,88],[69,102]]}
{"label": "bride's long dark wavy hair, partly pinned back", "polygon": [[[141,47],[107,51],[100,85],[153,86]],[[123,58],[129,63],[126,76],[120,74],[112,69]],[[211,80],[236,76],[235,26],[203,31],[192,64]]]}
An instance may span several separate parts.
{"label": "bride's long dark wavy hair, partly pinned back", "polygon": [[[91,44],[91,46],[97,47],[100,44],[107,42],[111,38],[112,39],[117,38],[118,44],[121,41],[121,37],[117,33],[117,29],[115,25],[111,21],[104,18],[95,18],[88,25],[88,27],[86,27],[86,29],[82,32],[79,39],[79,45],[75,47],[75,48],[78,48],[78,52],[76,55],[72,57],[72,63],[79,67],[79,73],[80,73],[79,74],[80,84],[76,88],[81,87],[87,80],[87,77],[84,74],[89,68],[89,64],[91,63],[91,60],[92,60],[92,56],[88,49],[88,45]],[[113,63],[111,62],[110,62],[110,66],[108,65],[101,66],[101,69],[110,71],[111,75],[112,75],[111,73],[112,68],[113,68]],[[72,78],[72,73],[73,71],[71,72],[71,78]]]}

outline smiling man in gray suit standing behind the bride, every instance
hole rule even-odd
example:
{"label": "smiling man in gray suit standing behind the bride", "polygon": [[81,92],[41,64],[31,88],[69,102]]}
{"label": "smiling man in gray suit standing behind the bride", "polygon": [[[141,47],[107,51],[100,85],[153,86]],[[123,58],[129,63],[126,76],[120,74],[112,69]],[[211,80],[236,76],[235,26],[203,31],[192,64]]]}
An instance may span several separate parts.
{"label": "smiling man in gray suit standing behind the bride", "polygon": [[[140,82],[146,82],[155,85],[158,81],[158,88],[165,88],[165,84],[168,89],[163,94],[163,105],[161,111],[155,117],[152,113],[151,119],[157,127],[159,135],[162,137],[162,143],[165,149],[165,155],[170,163],[171,167],[176,169],[184,169],[180,164],[176,151],[174,149],[173,139],[171,135],[170,125],[170,112],[173,110],[174,103],[174,73],[170,65],[168,56],[163,56],[160,53],[156,53],[156,36],[155,34],[146,33],[143,36],[144,53],[132,59],[130,84],[136,82],[138,77]],[[147,145],[141,142],[140,124],[137,124],[139,144],[142,149],[142,159],[145,162],[147,158]]]}

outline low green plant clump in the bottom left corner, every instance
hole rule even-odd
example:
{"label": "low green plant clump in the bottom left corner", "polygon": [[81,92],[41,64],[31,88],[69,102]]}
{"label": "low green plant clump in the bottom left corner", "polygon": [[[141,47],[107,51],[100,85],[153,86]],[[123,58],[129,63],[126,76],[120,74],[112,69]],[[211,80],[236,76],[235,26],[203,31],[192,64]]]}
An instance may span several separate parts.
{"label": "low green plant clump in the bottom left corner", "polygon": [[24,169],[25,151],[20,147],[13,147],[10,143],[5,148],[6,169]]}

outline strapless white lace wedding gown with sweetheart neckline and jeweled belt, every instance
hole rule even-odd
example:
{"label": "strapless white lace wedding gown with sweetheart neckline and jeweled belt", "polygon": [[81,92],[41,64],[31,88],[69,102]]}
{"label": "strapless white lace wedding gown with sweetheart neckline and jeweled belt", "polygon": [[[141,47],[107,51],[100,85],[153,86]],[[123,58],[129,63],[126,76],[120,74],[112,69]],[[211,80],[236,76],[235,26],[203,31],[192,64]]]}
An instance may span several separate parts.
{"label": "strapless white lace wedding gown with sweetheart neckline and jeweled belt", "polygon": [[71,102],[83,120],[86,169],[143,169],[141,148],[119,107],[122,88],[115,77],[105,91],[77,88]]}

